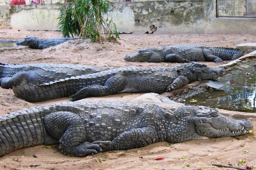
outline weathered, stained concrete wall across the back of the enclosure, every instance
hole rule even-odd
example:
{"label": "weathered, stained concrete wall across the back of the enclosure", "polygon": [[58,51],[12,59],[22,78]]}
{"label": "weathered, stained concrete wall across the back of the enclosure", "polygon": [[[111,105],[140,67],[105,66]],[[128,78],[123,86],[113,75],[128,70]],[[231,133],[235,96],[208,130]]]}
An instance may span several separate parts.
{"label": "weathered, stained concrete wall across the back of the enclosure", "polygon": [[[58,15],[54,4],[0,6],[0,28],[56,30]],[[214,0],[113,2],[108,17],[121,33],[256,34],[256,18],[216,18]]]}

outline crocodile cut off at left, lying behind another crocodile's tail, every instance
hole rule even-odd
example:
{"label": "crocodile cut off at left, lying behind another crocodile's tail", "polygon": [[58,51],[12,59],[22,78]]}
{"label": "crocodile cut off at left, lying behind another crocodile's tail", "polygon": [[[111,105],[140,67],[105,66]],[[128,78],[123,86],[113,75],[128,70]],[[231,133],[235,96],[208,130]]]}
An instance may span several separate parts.
{"label": "crocodile cut off at left, lying behind another crocodile's tail", "polygon": [[27,83],[47,83],[76,75],[97,73],[108,68],[75,64],[20,64],[0,63],[0,85],[9,89]]}

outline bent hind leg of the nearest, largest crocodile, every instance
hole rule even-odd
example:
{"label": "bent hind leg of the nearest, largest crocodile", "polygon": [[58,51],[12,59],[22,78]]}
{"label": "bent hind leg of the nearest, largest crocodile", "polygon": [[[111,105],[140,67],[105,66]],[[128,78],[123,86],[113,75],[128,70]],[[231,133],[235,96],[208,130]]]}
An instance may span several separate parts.
{"label": "bent hind leg of the nearest, largest crocodile", "polygon": [[68,156],[82,157],[102,151],[100,142],[86,141],[86,125],[72,112],[54,112],[44,118],[44,127],[53,138],[59,139],[59,148]]}

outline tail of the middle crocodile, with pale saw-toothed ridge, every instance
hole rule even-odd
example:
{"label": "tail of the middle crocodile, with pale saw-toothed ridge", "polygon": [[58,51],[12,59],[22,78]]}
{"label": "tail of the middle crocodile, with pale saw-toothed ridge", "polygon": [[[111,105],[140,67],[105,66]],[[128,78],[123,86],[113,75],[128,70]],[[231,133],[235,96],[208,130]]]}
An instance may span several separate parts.
{"label": "tail of the middle crocodile, with pale saw-toothed ridge", "polygon": [[[69,81],[72,82],[70,83]],[[75,94],[78,90],[75,90],[73,85],[75,85],[73,79],[66,78],[65,80],[60,79],[41,85],[38,83],[36,85],[28,83],[26,85],[13,87],[13,92],[16,97],[27,102],[42,102]]]}

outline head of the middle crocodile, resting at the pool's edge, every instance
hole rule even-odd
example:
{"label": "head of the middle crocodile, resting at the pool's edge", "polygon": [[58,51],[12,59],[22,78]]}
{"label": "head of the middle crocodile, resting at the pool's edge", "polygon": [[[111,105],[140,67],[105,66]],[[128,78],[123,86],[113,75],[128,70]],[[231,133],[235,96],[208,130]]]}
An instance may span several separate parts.
{"label": "head of the middle crocodile, resting at the pool's edge", "polygon": [[223,67],[210,68],[198,62],[185,63],[185,67],[196,76],[197,80],[206,80],[222,77],[225,69]]}

